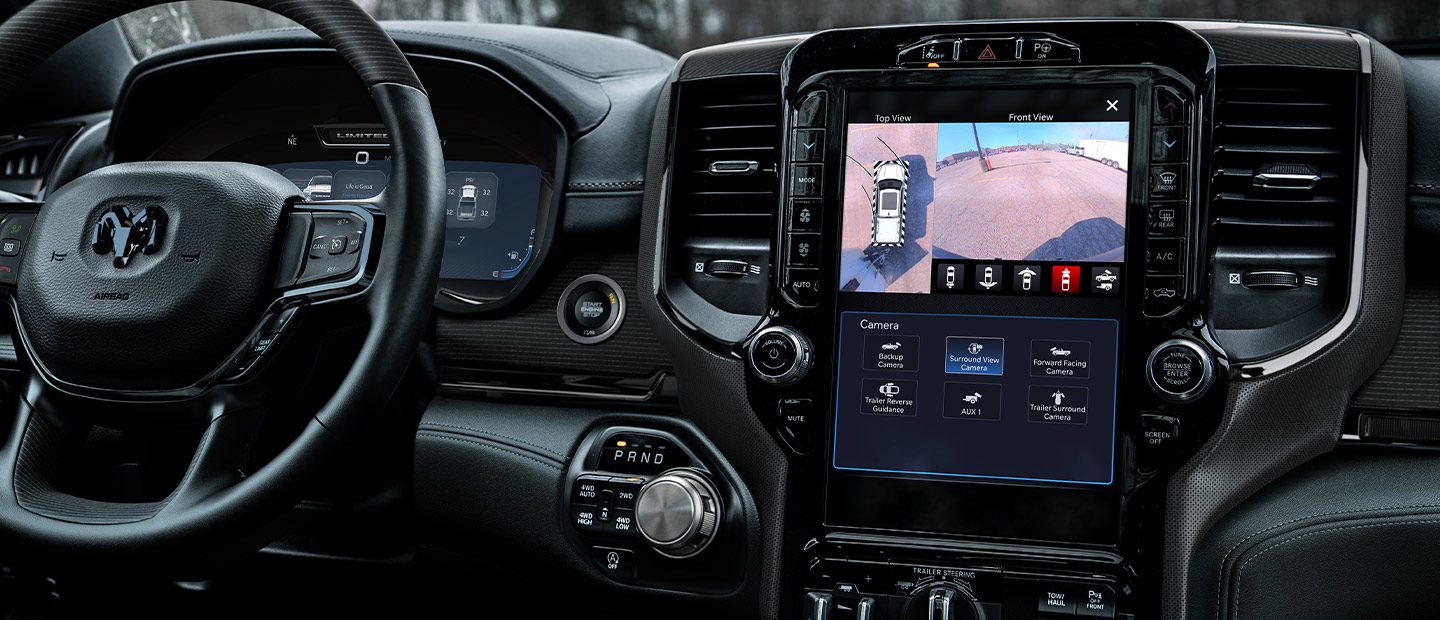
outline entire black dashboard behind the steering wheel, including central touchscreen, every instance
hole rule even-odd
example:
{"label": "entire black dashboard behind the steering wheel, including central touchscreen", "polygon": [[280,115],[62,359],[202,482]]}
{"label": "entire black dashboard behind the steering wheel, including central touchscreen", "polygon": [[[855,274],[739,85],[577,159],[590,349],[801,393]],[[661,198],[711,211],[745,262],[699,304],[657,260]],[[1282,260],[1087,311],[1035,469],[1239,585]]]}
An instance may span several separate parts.
{"label": "entire black dashboard behind the steering wheel, including central touchscreen", "polygon": [[[422,562],[677,616],[1024,620],[1238,617],[1254,561],[1284,596],[1248,606],[1344,617],[1290,583],[1323,550],[1263,542],[1329,532],[1296,508],[1326,483],[1404,508],[1365,489],[1423,468],[1369,459],[1437,442],[1440,298],[1404,250],[1440,222],[1423,53],[1200,20],[680,59],[387,27],[446,157],[423,397],[387,437]],[[105,148],[307,201],[383,201],[390,171],[360,83],[284,32],[143,62]],[[1335,459],[1355,478],[1315,478]],[[1382,575],[1336,581],[1418,600]]]}

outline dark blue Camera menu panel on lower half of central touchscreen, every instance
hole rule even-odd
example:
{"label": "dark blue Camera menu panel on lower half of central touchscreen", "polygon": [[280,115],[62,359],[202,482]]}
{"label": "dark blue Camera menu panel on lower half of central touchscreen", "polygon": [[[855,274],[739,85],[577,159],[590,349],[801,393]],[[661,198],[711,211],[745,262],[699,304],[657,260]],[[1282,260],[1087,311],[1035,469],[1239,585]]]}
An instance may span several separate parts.
{"label": "dark blue Camera menu panel on lower half of central touchscreen", "polygon": [[1107,485],[1119,322],[844,312],[832,463]]}

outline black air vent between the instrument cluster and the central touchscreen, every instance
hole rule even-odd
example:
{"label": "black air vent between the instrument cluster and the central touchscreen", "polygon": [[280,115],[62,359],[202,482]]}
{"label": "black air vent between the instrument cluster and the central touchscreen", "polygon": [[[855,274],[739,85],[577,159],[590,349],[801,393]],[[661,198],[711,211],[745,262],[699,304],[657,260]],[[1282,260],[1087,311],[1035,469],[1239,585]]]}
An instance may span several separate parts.
{"label": "black air vent between the instrument cluster and the central touchscreen", "polygon": [[[779,76],[685,81],[675,96],[670,281],[724,314],[757,316],[766,308],[779,209]],[[696,322],[708,329],[713,321]],[[749,329],[744,321],[732,324],[713,335],[730,339]]]}

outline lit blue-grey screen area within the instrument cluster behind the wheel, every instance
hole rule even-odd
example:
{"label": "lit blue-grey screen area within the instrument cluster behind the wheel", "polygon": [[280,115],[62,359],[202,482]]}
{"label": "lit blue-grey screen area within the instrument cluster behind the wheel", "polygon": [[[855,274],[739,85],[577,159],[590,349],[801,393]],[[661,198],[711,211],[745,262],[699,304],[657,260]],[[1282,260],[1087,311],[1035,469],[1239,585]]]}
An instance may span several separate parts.
{"label": "lit blue-grey screen area within the instrument cluster behind the wheel", "polygon": [[[387,160],[272,164],[305,200],[364,200],[390,181]],[[441,278],[508,281],[534,253],[540,168],[494,161],[445,163],[445,259]]]}

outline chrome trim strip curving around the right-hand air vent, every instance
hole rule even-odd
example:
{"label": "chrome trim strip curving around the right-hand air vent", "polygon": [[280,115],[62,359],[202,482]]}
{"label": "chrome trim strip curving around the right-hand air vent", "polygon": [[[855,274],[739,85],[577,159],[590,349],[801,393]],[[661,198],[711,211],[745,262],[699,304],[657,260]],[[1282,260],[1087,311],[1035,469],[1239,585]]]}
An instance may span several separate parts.
{"label": "chrome trim strip curving around the right-hand air vent", "polygon": [[[1371,65],[1369,37],[1359,33],[1351,33],[1351,37],[1355,39],[1356,45],[1359,45],[1361,75],[1368,76],[1374,72],[1374,66]],[[1369,92],[1362,95],[1367,101],[1369,99]],[[1355,319],[1359,316],[1359,305],[1365,296],[1365,234],[1367,224],[1369,222],[1369,161],[1365,157],[1365,134],[1369,132],[1369,105],[1367,104],[1361,109],[1367,112],[1367,118],[1359,119],[1359,127],[1356,127],[1355,131],[1355,217],[1351,227],[1351,279],[1349,289],[1345,296],[1345,312],[1341,315],[1339,321],[1335,321],[1333,325],[1325,329],[1320,335],[1312,338],[1309,342],[1269,360],[1236,364],[1231,370],[1237,378],[1259,378],[1300,365],[1302,363],[1331,348],[1335,342],[1344,338],[1352,327],[1355,327]],[[1211,338],[1214,338],[1214,332],[1211,332]]]}

